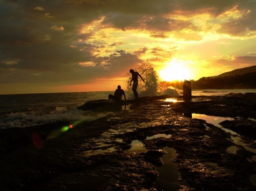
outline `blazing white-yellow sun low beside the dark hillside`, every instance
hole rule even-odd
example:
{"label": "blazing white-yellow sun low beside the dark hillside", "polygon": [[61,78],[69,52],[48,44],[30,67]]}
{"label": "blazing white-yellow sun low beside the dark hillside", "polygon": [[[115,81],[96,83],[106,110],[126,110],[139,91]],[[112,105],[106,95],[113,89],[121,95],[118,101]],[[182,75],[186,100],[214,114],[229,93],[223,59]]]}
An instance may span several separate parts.
{"label": "blazing white-yellow sun low beside the dark hillside", "polygon": [[184,66],[184,61],[179,59],[172,59],[170,63],[167,63],[164,68],[162,68],[159,72],[159,77],[168,82],[172,82],[174,80],[189,80],[190,79],[190,71],[188,68]]}

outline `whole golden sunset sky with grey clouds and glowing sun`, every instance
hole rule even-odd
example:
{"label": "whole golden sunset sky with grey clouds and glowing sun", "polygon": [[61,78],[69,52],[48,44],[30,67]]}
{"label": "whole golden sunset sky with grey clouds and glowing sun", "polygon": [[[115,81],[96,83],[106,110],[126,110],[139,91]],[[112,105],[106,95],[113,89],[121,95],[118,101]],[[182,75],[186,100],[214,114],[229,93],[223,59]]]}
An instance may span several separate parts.
{"label": "whole golden sunset sky with grey clouds and glowing sun", "polygon": [[255,0],[0,0],[0,94],[114,91],[256,65]]}

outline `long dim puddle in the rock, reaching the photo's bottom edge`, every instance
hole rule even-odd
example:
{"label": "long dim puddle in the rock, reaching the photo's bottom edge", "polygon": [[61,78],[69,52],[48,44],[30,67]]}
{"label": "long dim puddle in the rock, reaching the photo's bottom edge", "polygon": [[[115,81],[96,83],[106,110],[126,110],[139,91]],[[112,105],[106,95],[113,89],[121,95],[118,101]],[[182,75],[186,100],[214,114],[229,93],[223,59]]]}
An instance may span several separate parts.
{"label": "long dim puddle in the rock, reaching the photo's bottom edge", "polygon": [[159,172],[159,177],[156,182],[155,188],[157,191],[179,190],[180,185],[184,185],[179,179],[179,171],[177,170],[177,164],[172,162],[177,157],[176,150],[173,148],[165,147],[166,154],[161,157],[163,165],[156,167]]}

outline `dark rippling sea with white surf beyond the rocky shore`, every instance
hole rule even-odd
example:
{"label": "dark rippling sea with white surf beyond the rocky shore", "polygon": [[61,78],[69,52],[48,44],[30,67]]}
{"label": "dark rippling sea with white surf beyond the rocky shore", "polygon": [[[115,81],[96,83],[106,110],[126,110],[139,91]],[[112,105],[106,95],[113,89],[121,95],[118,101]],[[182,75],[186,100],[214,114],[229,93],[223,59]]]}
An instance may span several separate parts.
{"label": "dark rippling sea with white surf beyond the rocky shore", "polygon": [[[248,92],[256,93],[256,89],[200,89],[192,90],[192,96]],[[54,121],[92,121],[110,112],[82,111],[77,107],[88,101],[108,99],[110,93],[113,91],[0,95],[0,128],[24,128]]]}

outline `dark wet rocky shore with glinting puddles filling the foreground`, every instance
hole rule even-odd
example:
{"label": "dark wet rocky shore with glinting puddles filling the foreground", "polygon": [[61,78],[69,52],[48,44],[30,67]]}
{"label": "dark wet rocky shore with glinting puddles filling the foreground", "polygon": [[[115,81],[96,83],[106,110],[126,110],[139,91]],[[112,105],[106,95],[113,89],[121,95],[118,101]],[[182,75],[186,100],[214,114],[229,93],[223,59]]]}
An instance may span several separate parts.
{"label": "dark wet rocky shore with glinting puddles filling the foreground", "polygon": [[132,100],[73,128],[0,130],[1,190],[255,190],[255,94],[175,100]]}

